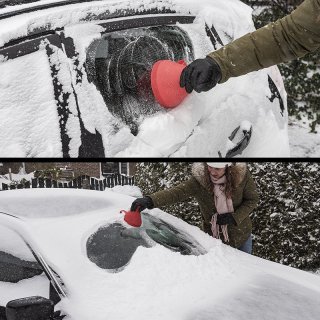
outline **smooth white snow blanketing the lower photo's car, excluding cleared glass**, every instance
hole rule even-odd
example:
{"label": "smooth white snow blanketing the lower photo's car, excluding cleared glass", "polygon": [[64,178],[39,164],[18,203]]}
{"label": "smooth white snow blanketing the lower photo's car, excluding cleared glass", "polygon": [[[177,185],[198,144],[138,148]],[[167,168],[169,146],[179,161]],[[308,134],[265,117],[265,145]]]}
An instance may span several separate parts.
{"label": "smooth white snow blanketing the lower photo's car, excluding cleared glass", "polygon": [[[161,245],[138,247],[124,270],[100,269],[87,258],[86,241],[101,226],[124,223],[119,211],[130,207],[132,197],[60,189],[11,193],[26,203],[21,216],[39,207],[38,218],[26,218],[26,230],[65,283],[68,297],[57,307],[67,312],[66,319],[88,320],[94,315],[96,320],[211,320],[217,316],[223,320],[314,320],[320,312],[318,276],[223,245],[159,209],[149,213],[192,235],[208,253],[184,256]],[[4,194],[0,194],[0,209]],[[34,194],[32,204],[29,199]],[[50,208],[57,196],[67,196],[70,202],[60,201],[61,210],[54,207],[51,213],[47,209],[47,214],[41,214],[40,209]],[[6,199],[6,205],[14,199]],[[105,207],[94,208],[99,202],[105,202]],[[93,211],[60,215],[87,203]],[[59,217],[54,217],[56,213]]]}

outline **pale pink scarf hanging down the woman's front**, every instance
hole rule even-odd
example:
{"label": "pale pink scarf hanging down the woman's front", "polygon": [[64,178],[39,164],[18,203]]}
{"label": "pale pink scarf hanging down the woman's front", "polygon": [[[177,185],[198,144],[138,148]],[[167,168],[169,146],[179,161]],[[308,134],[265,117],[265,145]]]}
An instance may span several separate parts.
{"label": "pale pink scarf hanging down the woman's front", "polygon": [[223,234],[225,242],[229,242],[228,225],[219,226],[217,224],[218,214],[234,212],[233,203],[231,198],[227,198],[225,194],[226,188],[226,176],[222,176],[219,179],[215,179],[210,175],[210,179],[213,183],[214,203],[217,209],[217,213],[212,216],[211,230],[214,238],[220,239],[220,228]]}

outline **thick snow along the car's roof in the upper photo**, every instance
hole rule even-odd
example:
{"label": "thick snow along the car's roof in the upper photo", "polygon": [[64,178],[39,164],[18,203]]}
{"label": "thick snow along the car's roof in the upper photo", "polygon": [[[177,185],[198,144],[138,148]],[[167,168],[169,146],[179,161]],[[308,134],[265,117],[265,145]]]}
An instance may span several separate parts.
{"label": "thick snow along the car's roof in the upper photo", "polygon": [[[39,3],[60,1],[40,1],[34,4],[25,4],[21,7],[32,7]],[[20,6],[19,6],[20,7]],[[111,14],[116,10],[149,10],[171,9],[181,14],[201,15],[208,20],[220,25],[224,30],[233,29],[234,36],[239,37],[253,29],[251,9],[237,0],[159,0],[159,1],[128,1],[104,0],[66,5],[47,10],[34,11],[27,14],[0,20],[0,47],[12,39],[23,37],[43,26],[51,30],[62,28],[66,25],[78,23],[90,15],[99,15],[104,12]],[[1,13],[17,10],[14,8],[0,9]],[[237,23],[236,21],[241,21]],[[235,23],[237,27],[235,27]],[[249,28],[248,28],[249,23]]]}

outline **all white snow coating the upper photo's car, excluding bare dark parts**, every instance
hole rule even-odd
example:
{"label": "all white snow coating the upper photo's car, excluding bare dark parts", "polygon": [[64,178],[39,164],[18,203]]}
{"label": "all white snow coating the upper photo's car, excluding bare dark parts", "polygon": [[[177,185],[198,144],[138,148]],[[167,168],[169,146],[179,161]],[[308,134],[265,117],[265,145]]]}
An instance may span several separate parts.
{"label": "all white snow coating the upper photo's car, excluding bare dark parts", "polygon": [[[101,27],[93,22],[83,22],[89,14],[163,7],[196,16],[192,25],[179,25],[191,37],[195,58],[202,58],[213,50],[205,33],[205,22],[215,26],[224,43],[254,30],[251,9],[237,0],[94,1],[4,19],[0,21],[0,46],[43,25],[50,29],[65,27],[66,36],[73,37],[79,52],[81,69],[85,50],[101,32]],[[7,8],[4,12],[10,10]],[[59,59],[63,67],[59,80],[64,79],[67,92],[72,92],[68,81],[73,80],[85,128],[101,134],[107,157],[216,157],[219,151],[225,155],[229,135],[243,121],[252,123],[253,132],[242,156],[290,154],[286,109],[281,116],[277,99],[273,103],[268,99],[271,96],[268,74],[285,96],[281,76],[275,67],[231,79],[207,93],[192,93],[173,110],[163,109],[143,116],[135,136],[126,124],[109,112],[94,84],[89,83],[86,76],[82,83],[76,84],[71,61],[67,62],[62,53]],[[48,67],[43,52],[0,62],[0,111],[4,115],[0,128],[6,129],[0,130],[0,155],[61,156],[57,108]],[[81,71],[85,72],[84,69]],[[70,155],[76,157],[81,140],[74,98],[70,98],[69,108],[72,116],[66,127],[71,138]],[[14,128],[9,131],[11,134],[7,133],[8,128]]]}

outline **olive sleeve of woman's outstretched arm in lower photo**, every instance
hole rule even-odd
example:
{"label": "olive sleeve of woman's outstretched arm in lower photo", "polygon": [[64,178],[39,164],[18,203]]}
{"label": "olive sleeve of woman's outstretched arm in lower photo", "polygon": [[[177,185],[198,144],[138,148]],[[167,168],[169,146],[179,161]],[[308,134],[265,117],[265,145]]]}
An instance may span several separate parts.
{"label": "olive sleeve of woman's outstretched arm in lower photo", "polygon": [[194,196],[198,183],[194,177],[179,185],[148,195],[153,201],[154,207],[159,208],[171,205]]}

